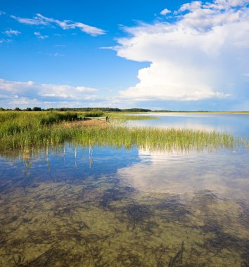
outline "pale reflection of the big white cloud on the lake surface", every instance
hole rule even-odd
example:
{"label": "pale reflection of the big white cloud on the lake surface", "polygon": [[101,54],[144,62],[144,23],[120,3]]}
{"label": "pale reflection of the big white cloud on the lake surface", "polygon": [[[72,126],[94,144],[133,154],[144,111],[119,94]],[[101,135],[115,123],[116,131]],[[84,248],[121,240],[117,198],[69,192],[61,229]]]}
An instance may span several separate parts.
{"label": "pale reflection of the big white cloud on the lake surface", "polygon": [[139,150],[141,162],[117,170],[122,183],[139,191],[193,195],[209,190],[220,197],[249,199],[249,168],[240,152]]}

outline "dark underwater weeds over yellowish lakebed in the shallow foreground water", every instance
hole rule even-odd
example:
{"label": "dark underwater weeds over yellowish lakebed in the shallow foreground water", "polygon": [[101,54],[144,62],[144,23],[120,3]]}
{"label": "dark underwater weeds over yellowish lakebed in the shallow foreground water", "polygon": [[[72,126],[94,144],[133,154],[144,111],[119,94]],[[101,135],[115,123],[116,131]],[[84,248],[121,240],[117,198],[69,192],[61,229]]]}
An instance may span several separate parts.
{"label": "dark underwater weeds over yellowish lakebed in the shallow foreground water", "polygon": [[247,228],[229,200],[79,179],[2,192],[1,266],[248,266]]}

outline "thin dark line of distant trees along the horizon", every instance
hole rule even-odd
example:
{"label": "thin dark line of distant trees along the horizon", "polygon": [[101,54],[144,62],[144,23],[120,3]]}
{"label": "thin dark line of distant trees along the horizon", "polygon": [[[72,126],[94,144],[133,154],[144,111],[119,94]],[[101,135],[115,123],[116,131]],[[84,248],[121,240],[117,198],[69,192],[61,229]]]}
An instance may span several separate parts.
{"label": "thin dark line of distant trees along the horizon", "polygon": [[[5,108],[0,108],[0,111],[4,110],[11,110],[11,109],[5,109]],[[120,108],[39,108],[39,107],[34,107],[34,108],[25,108],[25,109],[20,109],[20,108],[13,108],[14,111],[93,111],[93,110],[100,110],[102,112],[149,112],[151,110],[145,109],[145,108],[127,108],[127,109],[120,109]]]}

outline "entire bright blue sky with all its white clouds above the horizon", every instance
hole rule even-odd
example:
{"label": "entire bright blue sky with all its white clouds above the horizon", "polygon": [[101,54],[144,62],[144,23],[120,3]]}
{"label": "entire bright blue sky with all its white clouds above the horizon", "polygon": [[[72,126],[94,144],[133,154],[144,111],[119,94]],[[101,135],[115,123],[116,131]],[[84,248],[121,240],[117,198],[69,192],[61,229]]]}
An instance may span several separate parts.
{"label": "entire bright blue sky with all its white clouds above the horizon", "polygon": [[0,106],[249,110],[248,0],[1,1]]}

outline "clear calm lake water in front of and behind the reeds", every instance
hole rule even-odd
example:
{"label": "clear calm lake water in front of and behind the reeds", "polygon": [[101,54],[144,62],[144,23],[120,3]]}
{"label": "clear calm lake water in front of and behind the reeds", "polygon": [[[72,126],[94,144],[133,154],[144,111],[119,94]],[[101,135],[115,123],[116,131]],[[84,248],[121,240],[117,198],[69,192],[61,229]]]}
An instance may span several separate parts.
{"label": "clear calm lake water in front of and behind the reeds", "polygon": [[[249,136],[249,115],[136,126]],[[0,157],[0,266],[249,266],[248,148],[82,148]]]}

